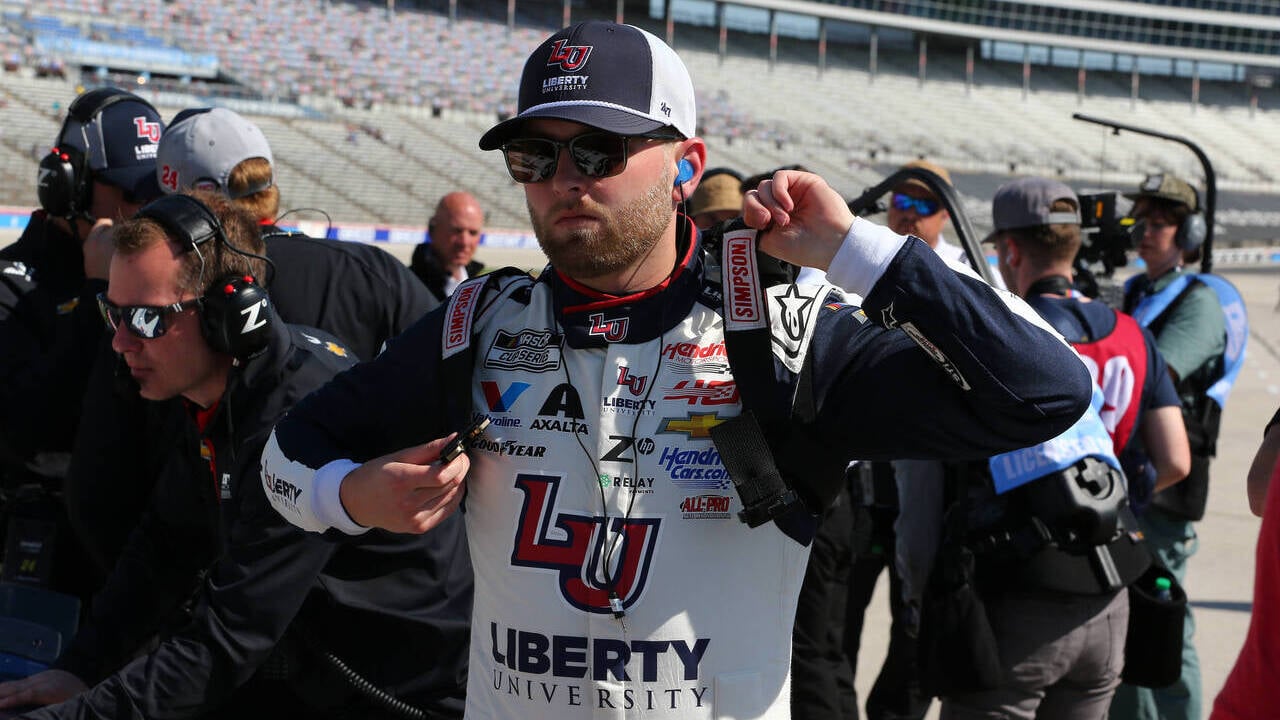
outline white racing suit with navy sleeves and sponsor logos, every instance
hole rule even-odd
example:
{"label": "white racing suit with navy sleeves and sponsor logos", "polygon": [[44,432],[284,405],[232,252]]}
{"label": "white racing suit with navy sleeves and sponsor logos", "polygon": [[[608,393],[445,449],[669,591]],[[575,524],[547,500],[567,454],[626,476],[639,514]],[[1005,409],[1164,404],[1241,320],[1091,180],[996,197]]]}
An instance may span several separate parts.
{"label": "white racing suit with navy sleeves and sponsor logos", "polygon": [[[445,423],[440,365],[471,345],[470,401],[492,425],[470,451],[463,503],[470,719],[788,715],[808,548],[774,523],[737,520],[708,433],[741,411],[723,307],[753,299],[731,274],[722,305],[691,232],[681,252],[667,283],[626,297],[552,269],[476,278],[269,442],[264,473],[297,488],[273,497],[276,510],[360,533],[340,479],[461,429]],[[919,240],[855,220],[828,278],[865,296],[865,313],[831,286],[765,300],[777,396],[822,448],[785,474],[849,457],[986,457],[1059,434],[1088,405],[1089,375],[1065,343]]]}

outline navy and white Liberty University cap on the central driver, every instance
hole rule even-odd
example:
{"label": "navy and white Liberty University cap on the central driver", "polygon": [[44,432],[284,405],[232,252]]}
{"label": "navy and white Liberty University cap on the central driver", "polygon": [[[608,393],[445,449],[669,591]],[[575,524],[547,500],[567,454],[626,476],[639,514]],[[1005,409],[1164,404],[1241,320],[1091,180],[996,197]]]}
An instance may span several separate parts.
{"label": "navy and white Liberty University cap on the central driver", "polygon": [[570,26],[534,50],[520,77],[517,115],[489,128],[480,149],[502,147],[531,118],[618,135],[664,127],[698,133],[694,82],[676,51],[637,27],[600,20]]}

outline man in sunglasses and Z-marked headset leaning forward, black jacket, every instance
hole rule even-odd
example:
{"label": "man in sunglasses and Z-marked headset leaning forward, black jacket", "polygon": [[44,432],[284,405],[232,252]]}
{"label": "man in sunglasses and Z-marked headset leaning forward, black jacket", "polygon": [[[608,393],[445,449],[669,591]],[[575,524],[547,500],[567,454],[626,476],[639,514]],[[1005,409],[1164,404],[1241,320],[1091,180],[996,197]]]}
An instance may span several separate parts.
{"label": "man in sunglasses and Z-marked headset leaning forward, black jacket", "polygon": [[[274,316],[253,219],[212,192],[170,195],[119,225],[114,243],[97,304],[140,395],[180,398],[180,454],[56,669],[0,684],[0,707],[65,701],[35,719],[461,716],[471,609],[461,520],[337,544],[268,502],[297,497],[259,477],[271,427],[353,359],[332,336]],[[172,416],[142,428],[164,437],[150,420]],[[160,619],[188,596],[189,623],[166,632]],[[156,632],[159,646],[131,660]]]}

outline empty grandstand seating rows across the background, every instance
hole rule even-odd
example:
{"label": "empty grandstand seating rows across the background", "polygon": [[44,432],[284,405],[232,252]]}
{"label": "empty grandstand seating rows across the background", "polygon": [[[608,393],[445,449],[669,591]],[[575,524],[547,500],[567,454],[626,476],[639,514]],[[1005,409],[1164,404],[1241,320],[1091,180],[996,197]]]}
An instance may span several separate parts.
{"label": "empty grandstand seating rows across the background", "polygon": [[[558,22],[483,6],[451,24],[445,15],[329,0],[41,0],[5,4],[0,51],[17,68],[0,77],[0,202],[35,204],[33,158],[56,133],[82,79],[36,78],[32,28],[92,33],[114,42],[161,42],[215,53],[224,81],[140,86],[165,117],[223,104],[252,117],[276,154],[285,206],[321,208],[347,222],[422,225],[435,199],[466,188],[483,199],[490,225],[527,224],[524,199],[497,154],[476,147],[495,118],[515,109],[515,78],[527,50]],[[504,8],[504,3],[500,4]],[[104,12],[105,10],[105,12]],[[41,19],[42,18],[42,19]],[[244,22],[253,18],[253,22]],[[630,18],[660,32],[644,18]],[[282,31],[280,28],[287,28]],[[954,170],[1042,173],[1074,184],[1132,186],[1148,170],[1197,178],[1189,152],[1153,138],[1112,137],[1074,111],[1185,135],[1202,143],[1224,188],[1280,192],[1276,94],[1251,109],[1238,85],[1091,72],[1076,94],[1074,69],[1037,67],[1024,95],[1021,67],[978,63],[932,49],[922,85],[911,50],[833,45],[826,72],[815,45],[783,40],[777,63],[764,38],[735,33],[721,58],[714,31],[678,27],[676,47],[699,95],[700,135],[710,164],[746,173],[803,163],[856,195],[896,164],[928,156]],[[236,97],[233,97],[236,96]],[[257,97],[257,100],[244,99]]]}

